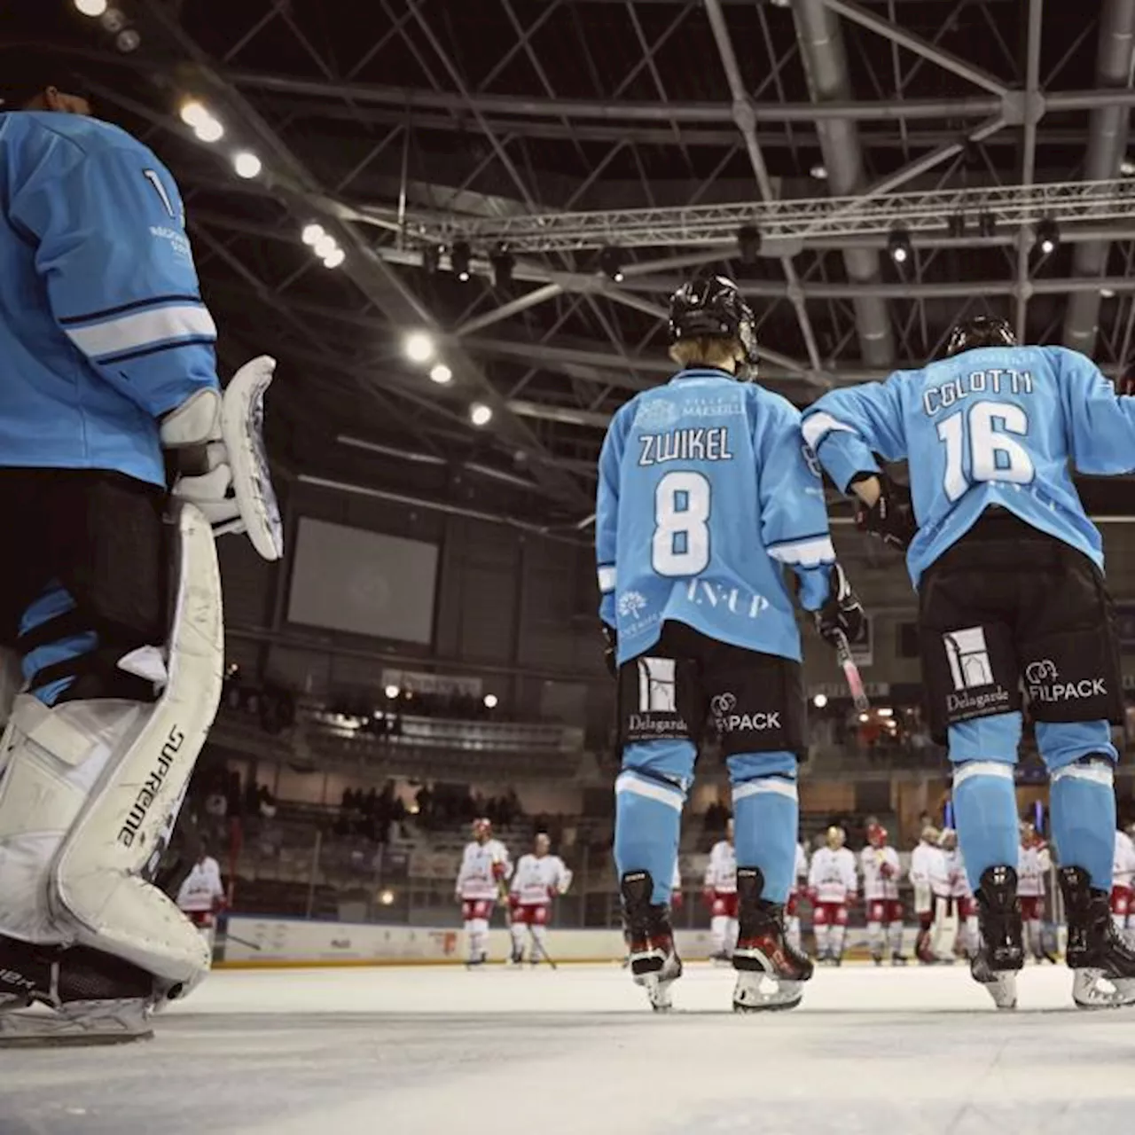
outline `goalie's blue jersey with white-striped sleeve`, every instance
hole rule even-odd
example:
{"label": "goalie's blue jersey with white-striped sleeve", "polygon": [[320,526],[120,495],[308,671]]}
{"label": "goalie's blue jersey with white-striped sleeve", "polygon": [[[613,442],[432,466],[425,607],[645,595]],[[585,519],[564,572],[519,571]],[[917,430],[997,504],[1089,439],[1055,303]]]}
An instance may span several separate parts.
{"label": "goalie's blue jersey with white-striped sleeve", "polygon": [[162,485],[157,418],[217,386],[177,185],[128,134],[0,114],[0,466]]}

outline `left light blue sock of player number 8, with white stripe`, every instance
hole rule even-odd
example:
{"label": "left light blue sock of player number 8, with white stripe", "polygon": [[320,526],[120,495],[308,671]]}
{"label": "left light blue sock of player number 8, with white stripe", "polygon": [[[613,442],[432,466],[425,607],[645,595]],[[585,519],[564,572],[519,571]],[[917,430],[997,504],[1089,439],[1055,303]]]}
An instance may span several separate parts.
{"label": "left light blue sock of player number 8, with white stripe", "polygon": [[693,759],[689,741],[628,745],[615,781],[615,866],[650,872],[656,905],[670,901]]}

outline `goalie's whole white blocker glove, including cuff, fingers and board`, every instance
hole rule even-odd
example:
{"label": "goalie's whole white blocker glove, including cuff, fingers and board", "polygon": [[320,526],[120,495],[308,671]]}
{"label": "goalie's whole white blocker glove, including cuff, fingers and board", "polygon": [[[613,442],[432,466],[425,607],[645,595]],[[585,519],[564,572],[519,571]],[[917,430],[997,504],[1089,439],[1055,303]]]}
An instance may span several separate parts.
{"label": "goalie's whole white blocker glove, including cuff, fingers and board", "polygon": [[224,397],[197,390],[161,420],[170,494],[195,505],[215,536],[246,532],[266,560],[284,554],[284,530],[262,436],[263,396],[276,362],[261,356],[233,376]]}

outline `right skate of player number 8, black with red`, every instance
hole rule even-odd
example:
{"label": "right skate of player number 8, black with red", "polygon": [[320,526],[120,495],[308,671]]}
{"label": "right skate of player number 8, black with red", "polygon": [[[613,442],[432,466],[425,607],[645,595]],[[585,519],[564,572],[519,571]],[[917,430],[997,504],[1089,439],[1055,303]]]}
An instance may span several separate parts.
{"label": "right skate of player number 8, black with red", "polygon": [[735,1012],[794,1009],[813,974],[812,959],[788,940],[784,905],[763,899],[764,889],[758,867],[737,869]]}

